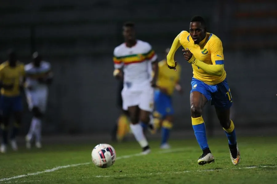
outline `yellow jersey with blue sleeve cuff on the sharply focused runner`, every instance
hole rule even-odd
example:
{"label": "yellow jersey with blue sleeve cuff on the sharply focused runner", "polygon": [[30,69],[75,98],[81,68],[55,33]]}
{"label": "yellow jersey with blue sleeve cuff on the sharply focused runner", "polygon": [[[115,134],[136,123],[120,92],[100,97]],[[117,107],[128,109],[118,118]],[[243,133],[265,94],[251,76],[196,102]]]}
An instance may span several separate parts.
{"label": "yellow jersey with blue sleeve cuff on the sharply focused runner", "polygon": [[[189,49],[196,59],[208,65],[224,65],[222,42],[214,34],[207,33],[206,37],[199,44],[194,44],[190,33],[182,31],[179,34],[179,42],[184,49]],[[196,65],[192,64],[192,68],[193,77],[208,85],[219,84],[226,78],[225,71],[221,76],[215,76],[205,72]]]}

